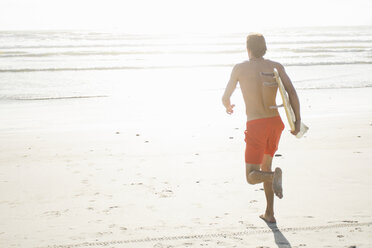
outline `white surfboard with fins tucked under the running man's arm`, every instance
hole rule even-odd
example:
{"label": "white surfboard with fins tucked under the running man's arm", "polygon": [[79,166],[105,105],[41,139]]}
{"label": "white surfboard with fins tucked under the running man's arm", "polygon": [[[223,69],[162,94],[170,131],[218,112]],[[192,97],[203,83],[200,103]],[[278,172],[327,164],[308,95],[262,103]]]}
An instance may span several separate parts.
{"label": "white surfboard with fins tucked under the running man's arm", "polygon": [[[288,93],[285,90],[284,85],[282,83],[282,80],[280,79],[279,73],[276,69],[274,69],[274,78],[275,78],[275,81],[278,84],[278,89],[279,89],[280,96],[281,96],[282,101],[283,101],[283,107],[284,107],[284,110],[285,110],[285,115],[287,116],[287,121],[288,121],[289,127],[290,127],[291,131],[294,131],[295,130],[296,117],[295,117],[295,114],[293,112],[291,103],[289,101]],[[309,127],[301,122],[300,132],[296,135],[296,137],[301,138],[307,132],[307,130],[309,130]]]}

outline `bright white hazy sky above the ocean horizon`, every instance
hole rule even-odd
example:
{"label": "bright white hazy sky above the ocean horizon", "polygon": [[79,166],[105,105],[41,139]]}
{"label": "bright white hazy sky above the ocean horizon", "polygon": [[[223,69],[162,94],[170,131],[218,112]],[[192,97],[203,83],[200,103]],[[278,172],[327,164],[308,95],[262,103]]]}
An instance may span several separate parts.
{"label": "bright white hazy sky above the ocean horizon", "polygon": [[371,0],[1,0],[0,30],[226,32],[372,25]]}

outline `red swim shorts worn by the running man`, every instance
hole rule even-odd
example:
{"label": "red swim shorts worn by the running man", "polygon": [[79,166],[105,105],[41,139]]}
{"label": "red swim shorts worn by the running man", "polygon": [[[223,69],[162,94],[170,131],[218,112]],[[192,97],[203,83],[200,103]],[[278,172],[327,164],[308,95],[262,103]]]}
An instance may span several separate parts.
{"label": "red swim shorts worn by the running man", "polygon": [[274,156],[278,150],[284,124],[280,116],[256,119],[247,122],[245,130],[245,162],[261,164],[264,154]]}

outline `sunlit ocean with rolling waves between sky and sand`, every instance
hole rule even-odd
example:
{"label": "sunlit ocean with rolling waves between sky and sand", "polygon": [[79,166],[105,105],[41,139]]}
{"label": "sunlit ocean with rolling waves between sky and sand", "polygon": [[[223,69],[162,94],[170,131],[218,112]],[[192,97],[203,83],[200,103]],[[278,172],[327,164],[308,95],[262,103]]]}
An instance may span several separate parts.
{"label": "sunlit ocean with rolling waves between sky and sand", "polygon": [[[223,90],[250,31],[1,31],[0,101]],[[297,89],[372,86],[372,26],[262,30]]]}

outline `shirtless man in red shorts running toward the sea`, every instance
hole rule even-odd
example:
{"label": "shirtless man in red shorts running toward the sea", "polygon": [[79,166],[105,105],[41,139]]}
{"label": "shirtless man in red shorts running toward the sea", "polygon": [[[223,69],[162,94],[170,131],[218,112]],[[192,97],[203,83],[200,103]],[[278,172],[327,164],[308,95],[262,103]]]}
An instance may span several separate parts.
{"label": "shirtless man in red shorts running toward the sea", "polygon": [[275,108],[278,85],[273,78],[274,68],[278,70],[295,113],[296,123],[295,130],[292,131],[293,135],[300,131],[300,103],[284,67],[277,62],[263,58],[266,53],[266,42],[261,34],[248,35],[247,51],[249,61],[234,66],[222,102],[226,112],[232,114],[235,105],[231,104],[230,97],[239,82],[247,114],[246,179],[249,184],[264,184],[267,205],[265,213],[260,217],[267,222],[275,223],[274,193],[280,199],[283,197],[282,171],[276,168],[272,172],[271,164],[278,149],[284,124]]}

